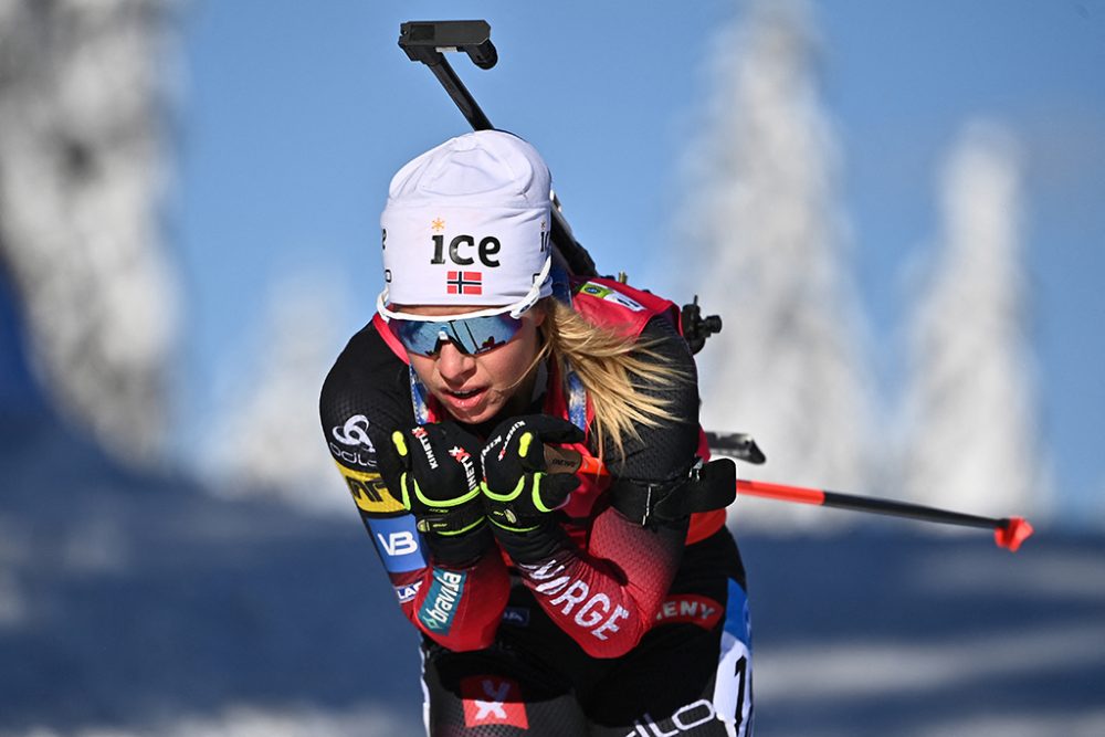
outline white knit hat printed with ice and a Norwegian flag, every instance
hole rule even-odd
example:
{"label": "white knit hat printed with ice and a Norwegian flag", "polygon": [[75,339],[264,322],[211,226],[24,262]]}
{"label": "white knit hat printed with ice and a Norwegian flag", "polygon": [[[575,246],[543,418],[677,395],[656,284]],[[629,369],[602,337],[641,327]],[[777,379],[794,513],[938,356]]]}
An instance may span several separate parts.
{"label": "white knit hat printed with ice and a Norwegian flag", "polygon": [[478,130],[392,178],[380,217],[382,302],[512,306],[552,293],[548,167],[525,140]]}

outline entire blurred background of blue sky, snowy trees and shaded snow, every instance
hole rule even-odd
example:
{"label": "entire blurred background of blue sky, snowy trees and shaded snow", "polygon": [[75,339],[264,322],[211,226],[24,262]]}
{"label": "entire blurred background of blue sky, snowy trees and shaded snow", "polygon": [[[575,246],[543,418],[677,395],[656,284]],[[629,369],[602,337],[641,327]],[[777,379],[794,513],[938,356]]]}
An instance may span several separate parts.
{"label": "entire blurred background of blue sky, snowy trees and shaded snow", "polygon": [[0,735],[417,734],[315,406],[465,129],[429,18],[599,269],[723,316],[745,475],[1036,523],[738,501],[759,734],[1105,734],[1105,2],[8,0]]}

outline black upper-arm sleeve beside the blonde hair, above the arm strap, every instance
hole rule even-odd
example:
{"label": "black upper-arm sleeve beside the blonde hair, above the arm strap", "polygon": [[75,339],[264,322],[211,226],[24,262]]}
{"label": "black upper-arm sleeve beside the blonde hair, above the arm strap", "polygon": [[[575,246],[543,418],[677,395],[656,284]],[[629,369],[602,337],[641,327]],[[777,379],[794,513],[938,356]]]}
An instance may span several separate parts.
{"label": "black upper-arm sleeve beside the blonde hair, above the arm strap", "polygon": [[[686,475],[698,450],[698,375],[686,340],[664,317],[654,317],[641,333],[642,340],[652,343],[656,358],[638,354],[645,361],[661,361],[671,369],[664,382],[638,380],[636,389],[649,397],[669,402],[665,417],[655,427],[639,424],[640,438],[623,439],[624,454],[614,456],[608,465],[618,476],[639,482],[660,483]],[[604,442],[607,449],[613,445]]]}

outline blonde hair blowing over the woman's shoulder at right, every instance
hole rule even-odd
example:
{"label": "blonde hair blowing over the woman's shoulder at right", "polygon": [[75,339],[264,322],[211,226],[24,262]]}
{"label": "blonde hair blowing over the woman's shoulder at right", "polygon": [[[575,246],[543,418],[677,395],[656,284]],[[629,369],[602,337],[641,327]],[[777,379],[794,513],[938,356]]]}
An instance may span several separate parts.
{"label": "blonde hair blowing over the woman's shoulder at right", "polygon": [[640,438],[639,425],[654,428],[669,414],[671,402],[643,393],[641,387],[672,386],[691,377],[652,350],[660,340],[627,337],[593,325],[555,298],[543,299],[540,307],[546,319],[538,360],[550,356],[561,377],[567,364],[571,365],[594,412],[599,457],[603,457],[606,438],[622,456],[625,440]]}

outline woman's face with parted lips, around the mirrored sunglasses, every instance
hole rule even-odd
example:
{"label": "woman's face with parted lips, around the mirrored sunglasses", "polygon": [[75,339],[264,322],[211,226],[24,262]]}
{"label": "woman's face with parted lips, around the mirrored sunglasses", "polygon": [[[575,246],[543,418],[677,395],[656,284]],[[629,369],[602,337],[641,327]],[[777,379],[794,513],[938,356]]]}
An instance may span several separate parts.
{"label": "woman's face with parted lips, around the mirrored sunglasses", "polygon": [[[428,317],[463,315],[486,307],[403,307],[403,312]],[[545,320],[539,308],[522,316],[522,329],[504,346],[483,354],[462,352],[443,343],[435,356],[408,351],[411,366],[425,388],[456,420],[475,424],[491,420],[515,397],[529,398],[533,376],[526,376],[538,351],[537,328]],[[519,408],[520,409],[520,408]]]}

